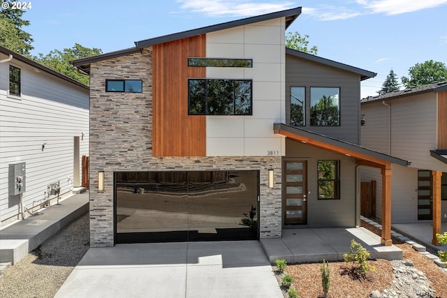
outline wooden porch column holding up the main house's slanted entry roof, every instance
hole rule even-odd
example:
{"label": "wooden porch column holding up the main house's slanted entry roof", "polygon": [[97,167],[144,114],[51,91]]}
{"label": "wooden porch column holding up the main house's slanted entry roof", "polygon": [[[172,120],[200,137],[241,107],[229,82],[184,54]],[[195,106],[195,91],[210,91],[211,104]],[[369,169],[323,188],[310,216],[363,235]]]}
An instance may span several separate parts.
{"label": "wooden porch column holding up the main house's slanted entry roof", "polygon": [[391,163],[386,163],[382,173],[382,238],[381,244],[391,246]]}

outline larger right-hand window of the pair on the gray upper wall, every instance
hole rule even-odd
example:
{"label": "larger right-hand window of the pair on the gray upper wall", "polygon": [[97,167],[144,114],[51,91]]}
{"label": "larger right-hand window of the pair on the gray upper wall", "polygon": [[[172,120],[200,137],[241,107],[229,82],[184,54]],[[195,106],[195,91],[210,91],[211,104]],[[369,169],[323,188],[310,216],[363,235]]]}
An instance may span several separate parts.
{"label": "larger right-hand window of the pair on the gray upper wall", "polygon": [[311,87],[310,89],[310,125],[340,125],[340,89]]}

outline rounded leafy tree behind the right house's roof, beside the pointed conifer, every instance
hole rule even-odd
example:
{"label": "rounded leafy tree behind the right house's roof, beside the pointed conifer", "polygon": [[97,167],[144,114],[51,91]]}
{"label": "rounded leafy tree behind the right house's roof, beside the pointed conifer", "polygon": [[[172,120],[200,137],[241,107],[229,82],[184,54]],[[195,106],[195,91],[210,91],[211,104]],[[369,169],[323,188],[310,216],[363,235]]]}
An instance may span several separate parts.
{"label": "rounded leafy tree behind the right house's roof, beside the pointed conifer", "polygon": [[409,77],[401,79],[406,88],[447,80],[446,64],[433,60],[425,61],[423,64],[417,63],[410,67],[408,72]]}

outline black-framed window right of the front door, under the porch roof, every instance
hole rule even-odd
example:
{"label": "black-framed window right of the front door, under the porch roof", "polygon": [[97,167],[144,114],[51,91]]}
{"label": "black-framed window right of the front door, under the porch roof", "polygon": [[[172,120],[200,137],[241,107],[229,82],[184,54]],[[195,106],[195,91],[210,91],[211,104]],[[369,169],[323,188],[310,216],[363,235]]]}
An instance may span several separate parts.
{"label": "black-framed window right of the front door, under the porch roof", "polygon": [[339,200],[340,161],[318,161],[318,200]]}

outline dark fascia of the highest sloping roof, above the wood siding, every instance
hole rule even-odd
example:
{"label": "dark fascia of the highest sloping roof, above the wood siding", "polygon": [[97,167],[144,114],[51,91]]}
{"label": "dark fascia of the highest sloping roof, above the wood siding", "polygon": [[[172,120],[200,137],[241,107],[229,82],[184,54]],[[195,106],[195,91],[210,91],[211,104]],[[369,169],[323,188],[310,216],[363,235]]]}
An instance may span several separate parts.
{"label": "dark fascia of the highest sloping roof, above the wood siding", "polygon": [[244,26],[247,24],[253,24],[257,22],[263,22],[267,20],[277,19],[278,17],[290,17],[286,19],[286,29],[290,26],[293,21],[301,14],[301,7],[291,8],[288,10],[277,11],[276,13],[268,13],[265,15],[256,15],[254,17],[247,17],[240,20],[225,22],[221,24],[215,24],[207,27],[202,27],[198,29],[192,29],[188,31],[182,31],[179,33],[173,33],[166,36],[159,36],[155,38],[149,38],[145,40],[135,41],[135,46],[138,48],[149,47],[150,45],[157,45],[159,43],[167,43],[169,41],[178,40],[182,38],[188,38],[191,36],[198,36],[205,33],[210,33],[214,31],[219,31],[223,29],[229,29],[233,27]]}

